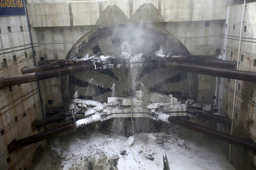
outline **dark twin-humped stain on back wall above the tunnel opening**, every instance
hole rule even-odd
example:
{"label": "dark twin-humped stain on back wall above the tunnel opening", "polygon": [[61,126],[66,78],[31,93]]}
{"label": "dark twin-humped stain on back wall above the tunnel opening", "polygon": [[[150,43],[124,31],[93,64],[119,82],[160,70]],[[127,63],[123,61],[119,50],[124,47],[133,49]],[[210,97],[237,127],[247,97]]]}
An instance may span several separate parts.
{"label": "dark twin-humped stain on back wall above the tunnel opening", "polygon": [[[105,8],[100,14],[100,17],[97,19],[96,25],[113,25],[113,24],[124,24],[127,23],[127,18],[125,13],[116,5],[109,5]],[[130,18],[132,23],[147,23],[148,27],[156,29],[159,32],[162,32],[165,35],[168,35],[168,38],[165,39],[163,44],[166,44],[166,50],[173,54],[181,54],[183,56],[190,56],[187,48],[182,44],[172,33],[166,31],[163,23],[164,18],[160,15],[159,10],[152,5],[152,3],[144,3],[140,6]],[[97,27],[97,26],[96,26]],[[95,29],[97,30],[97,29]],[[84,35],[88,36],[88,35]],[[90,36],[88,36],[88,39]],[[76,49],[80,43],[77,41],[72,49]],[[180,53],[181,52],[181,53]],[[67,58],[67,57],[66,57]]]}

